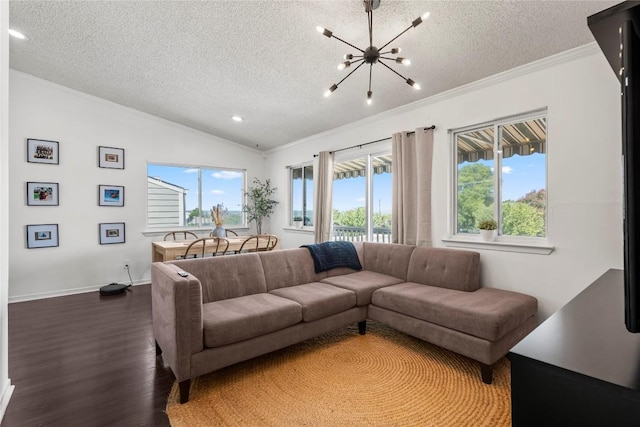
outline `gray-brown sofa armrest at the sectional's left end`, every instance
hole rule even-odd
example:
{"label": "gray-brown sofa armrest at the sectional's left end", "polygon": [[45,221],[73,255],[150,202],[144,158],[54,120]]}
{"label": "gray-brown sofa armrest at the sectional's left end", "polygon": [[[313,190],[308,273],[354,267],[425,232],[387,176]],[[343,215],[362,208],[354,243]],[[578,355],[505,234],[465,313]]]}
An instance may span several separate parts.
{"label": "gray-brown sofa armrest at the sectional's left end", "polygon": [[191,355],[204,348],[202,286],[172,264],[151,265],[153,335],[176,380],[191,378]]}

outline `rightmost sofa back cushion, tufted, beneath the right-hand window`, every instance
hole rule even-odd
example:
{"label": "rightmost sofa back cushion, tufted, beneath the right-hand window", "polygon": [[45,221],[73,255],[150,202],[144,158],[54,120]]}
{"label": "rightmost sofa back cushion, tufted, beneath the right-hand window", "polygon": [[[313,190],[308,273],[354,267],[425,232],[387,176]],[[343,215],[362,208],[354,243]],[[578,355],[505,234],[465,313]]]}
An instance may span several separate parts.
{"label": "rightmost sofa back cushion, tufted, beneath the right-hand window", "polygon": [[480,288],[480,254],[472,251],[416,247],[407,282],[459,291]]}

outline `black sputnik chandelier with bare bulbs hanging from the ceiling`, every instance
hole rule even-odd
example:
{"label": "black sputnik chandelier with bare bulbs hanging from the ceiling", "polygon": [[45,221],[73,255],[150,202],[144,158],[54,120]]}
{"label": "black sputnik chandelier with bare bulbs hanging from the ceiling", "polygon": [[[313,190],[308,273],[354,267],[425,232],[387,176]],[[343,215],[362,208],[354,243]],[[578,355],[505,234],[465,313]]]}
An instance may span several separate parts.
{"label": "black sputnik chandelier with bare bulbs hanging from the ceiling", "polygon": [[353,69],[353,71],[351,71],[349,74],[347,74],[342,80],[340,80],[338,83],[333,84],[324,94],[324,96],[329,96],[333,93],[333,91],[335,91],[338,86],[340,84],[342,84],[343,81],[345,81],[351,74],[355,73],[356,70],[358,70],[358,68],[362,67],[364,64],[369,64],[369,91],[367,92],[367,104],[371,105],[372,101],[373,101],[373,92],[371,92],[371,73],[373,70],[373,65],[374,64],[381,64],[384,65],[387,69],[391,70],[393,73],[397,74],[398,76],[400,76],[400,78],[404,81],[407,82],[407,84],[411,87],[413,87],[414,89],[420,89],[420,85],[416,82],[414,82],[413,80],[409,79],[409,78],[405,78],[402,74],[398,73],[396,70],[394,70],[393,68],[391,68],[390,66],[388,66],[387,64],[385,64],[383,61],[390,61],[390,62],[395,62],[398,64],[402,64],[402,65],[409,65],[411,64],[411,61],[409,61],[407,58],[403,58],[401,56],[397,56],[397,57],[391,57],[391,56],[383,56],[383,55],[397,55],[400,53],[400,48],[398,47],[394,47],[391,48],[390,50],[383,52],[383,50],[389,46],[393,41],[395,41],[398,37],[400,37],[401,35],[403,35],[404,33],[406,33],[407,31],[409,31],[411,28],[417,27],[418,25],[420,25],[420,23],[422,23],[422,21],[426,20],[429,17],[429,12],[425,13],[424,15],[422,15],[421,17],[415,19],[411,25],[409,25],[409,27],[404,30],[403,32],[401,32],[400,34],[398,34],[397,36],[395,36],[394,38],[392,38],[391,40],[389,40],[384,46],[382,46],[381,48],[377,48],[373,45],[373,10],[377,9],[378,6],[380,6],[380,0],[363,0],[364,2],[364,9],[365,12],[367,12],[367,20],[369,21],[369,47],[367,47],[366,49],[362,50],[354,45],[352,45],[351,43],[348,43],[344,40],[342,40],[341,38],[335,36],[331,31],[327,30],[326,28],[323,27],[316,27],[316,29],[318,30],[319,33],[331,38],[335,38],[336,40],[341,41],[342,43],[351,46],[352,48],[356,49],[357,51],[359,51],[360,53],[362,53],[362,55],[353,55],[353,54],[346,54],[344,56],[345,61],[341,62],[338,65],[338,69],[339,70],[344,70],[345,68],[349,68],[352,65],[358,64],[358,66],[356,68]]}

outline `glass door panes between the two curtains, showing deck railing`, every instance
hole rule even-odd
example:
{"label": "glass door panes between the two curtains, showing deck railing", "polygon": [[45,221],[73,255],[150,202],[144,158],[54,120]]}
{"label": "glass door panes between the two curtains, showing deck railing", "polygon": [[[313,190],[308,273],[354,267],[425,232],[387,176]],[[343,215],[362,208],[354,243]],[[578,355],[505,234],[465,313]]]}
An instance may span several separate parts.
{"label": "glass door panes between the two curtains, showing deck railing", "polygon": [[391,241],[391,165],[388,153],[334,164],[335,240]]}

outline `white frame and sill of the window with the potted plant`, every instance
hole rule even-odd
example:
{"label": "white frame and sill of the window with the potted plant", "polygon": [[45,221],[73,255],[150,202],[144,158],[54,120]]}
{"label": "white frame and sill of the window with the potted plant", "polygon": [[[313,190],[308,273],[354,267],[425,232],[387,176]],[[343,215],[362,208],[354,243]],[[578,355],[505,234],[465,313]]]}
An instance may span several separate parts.
{"label": "white frame and sill of the window with the potted plant", "polygon": [[[494,144],[493,144],[493,158],[494,158],[494,218],[498,220],[498,229],[501,228],[501,201],[502,201],[502,156],[499,141],[501,138],[500,129],[503,125],[507,125],[514,122],[521,122],[531,119],[537,119],[544,117],[547,122],[547,146],[545,150],[545,236],[505,236],[499,235],[493,242],[487,242],[482,240],[480,235],[470,233],[458,233],[458,165],[457,165],[457,145],[456,135],[459,133],[469,132],[475,129],[482,129],[493,126],[494,128]],[[446,246],[464,247],[471,249],[492,249],[502,250],[509,252],[525,252],[525,253],[537,253],[537,254],[549,254],[553,251],[554,247],[550,244],[549,240],[549,115],[547,108],[542,108],[526,113],[512,115],[508,117],[502,117],[483,123],[478,123],[470,126],[465,126],[456,129],[450,129],[450,155],[451,161],[449,163],[449,221],[448,221],[448,236],[443,238],[442,241]]]}

